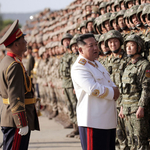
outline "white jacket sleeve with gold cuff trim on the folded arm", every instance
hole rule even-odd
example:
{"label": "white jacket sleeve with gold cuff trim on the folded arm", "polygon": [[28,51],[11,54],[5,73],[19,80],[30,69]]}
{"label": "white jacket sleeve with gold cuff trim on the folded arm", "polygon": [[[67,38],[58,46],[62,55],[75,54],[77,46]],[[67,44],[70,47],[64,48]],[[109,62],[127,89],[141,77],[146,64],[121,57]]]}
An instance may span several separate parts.
{"label": "white jacket sleeve with gold cuff trim on the folded arm", "polygon": [[76,83],[88,95],[101,99],[113,100],[114,90],[95,81],[92,74],[84,67],[73,67],[71,70],[73,83]]}

